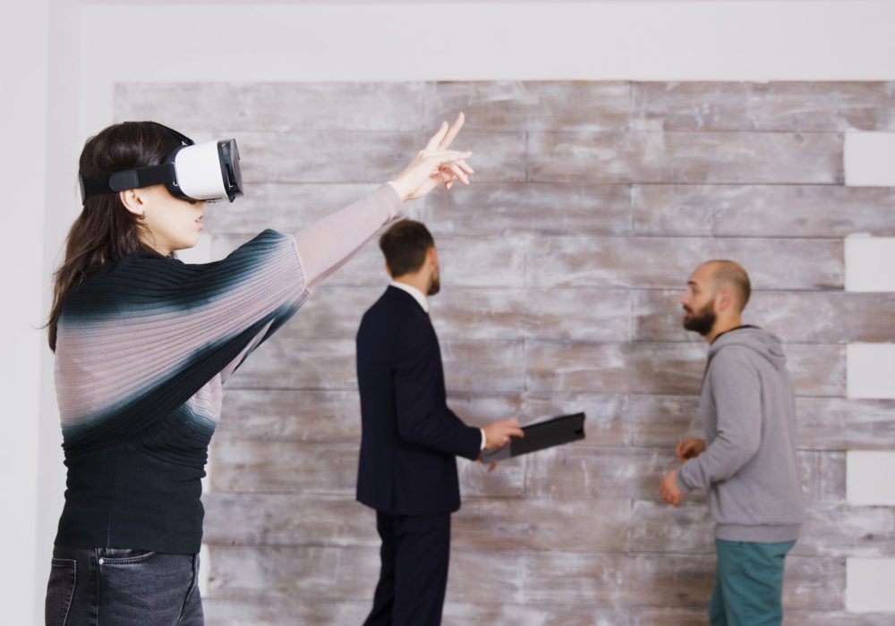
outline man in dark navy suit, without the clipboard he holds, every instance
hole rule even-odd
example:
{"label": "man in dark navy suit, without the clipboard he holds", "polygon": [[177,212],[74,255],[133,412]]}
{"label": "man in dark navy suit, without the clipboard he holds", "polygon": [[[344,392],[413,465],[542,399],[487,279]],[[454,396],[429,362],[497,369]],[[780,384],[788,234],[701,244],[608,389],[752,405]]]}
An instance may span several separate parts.
{"label": "man in dark navy suit, without the clipboard he holds", "polygon": [[523,436],[516,419],[466,426],[447,408],[439,340],[427,296],[439,292],[439,260],[419,222],[379,239],[392,283],[357,332],[361,458],[357,499],[376,510],[381,571],[365,624],[441,622],[450,516],[460,508],[456,456]]}

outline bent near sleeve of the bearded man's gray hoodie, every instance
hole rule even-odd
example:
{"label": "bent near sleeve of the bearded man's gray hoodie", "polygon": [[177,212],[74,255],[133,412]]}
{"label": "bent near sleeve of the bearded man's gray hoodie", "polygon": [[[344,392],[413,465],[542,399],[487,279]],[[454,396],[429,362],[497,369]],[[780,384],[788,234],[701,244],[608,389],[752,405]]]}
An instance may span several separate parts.
{"label": "bent near sleeve of the bearded man's gray hoodie", "polygon": [[762,439],[762,386],[749,349],[728,346],[712,359],[708,380],[718,416],[718,436],[705,452],[678,469],[685,492],[734,476],[756,453]]}

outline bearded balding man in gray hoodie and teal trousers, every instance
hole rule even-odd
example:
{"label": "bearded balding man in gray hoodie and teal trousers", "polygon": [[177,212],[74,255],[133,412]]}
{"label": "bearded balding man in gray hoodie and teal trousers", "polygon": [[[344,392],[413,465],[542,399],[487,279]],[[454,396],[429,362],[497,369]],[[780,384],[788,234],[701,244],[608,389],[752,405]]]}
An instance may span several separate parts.
{"label": "bearded balding man in gray hoodie and teal trousers", "polygon": [[696,268],[681,298],[684,327],[709,343],[699,402],[705,439],[678,444],[680,468],[662,479],[675,506],[704,488],[717,522],[712,626],[782,621],[783,563],[804,517],[796,409],[780,340],[741,315],[749,276],[733,261]]}

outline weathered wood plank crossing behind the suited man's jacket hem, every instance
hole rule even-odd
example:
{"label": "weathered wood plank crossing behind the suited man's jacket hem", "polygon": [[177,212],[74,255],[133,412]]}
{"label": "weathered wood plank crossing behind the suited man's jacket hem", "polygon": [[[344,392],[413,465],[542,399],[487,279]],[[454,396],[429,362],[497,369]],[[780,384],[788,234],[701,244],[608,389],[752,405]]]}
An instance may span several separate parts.
{"label": "weathered wood plank crossing behind the suited man's jacket hem", "polygon": [[[205,542],[212,545],[379,546],[376,513],[347,498],[212,492],[203,503]],[[452,520],[452,546],[472,552],[621,553],[628,542],[630,515],[624,500],[471,497]]]}

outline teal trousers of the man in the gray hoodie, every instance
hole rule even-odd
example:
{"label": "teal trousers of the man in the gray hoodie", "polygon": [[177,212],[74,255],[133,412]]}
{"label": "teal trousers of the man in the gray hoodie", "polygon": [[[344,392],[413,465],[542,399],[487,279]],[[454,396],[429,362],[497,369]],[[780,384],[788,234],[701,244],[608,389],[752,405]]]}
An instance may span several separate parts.
{"label": "teal trousers of the man in the gray hoodie", "polygon": [[709,603],[711,626],[780,626],[783,561],[795,544],[715,539],[718,570]]}

